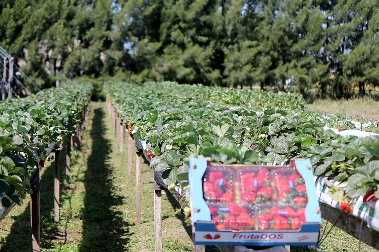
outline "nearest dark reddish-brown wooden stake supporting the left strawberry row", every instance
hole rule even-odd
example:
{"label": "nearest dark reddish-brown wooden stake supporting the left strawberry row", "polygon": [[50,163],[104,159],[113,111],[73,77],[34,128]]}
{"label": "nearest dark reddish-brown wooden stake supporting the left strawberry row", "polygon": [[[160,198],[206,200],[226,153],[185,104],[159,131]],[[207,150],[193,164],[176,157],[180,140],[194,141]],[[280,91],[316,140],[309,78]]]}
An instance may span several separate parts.
{"label": "nearest dark reddish-brown wooden stake supporting the left strawberry row", "polygon": [[33,252],[40,252],[41,234],[39,222],[39,191],[33,191],[30,195],[30,223],[31,223],[31,239]]}

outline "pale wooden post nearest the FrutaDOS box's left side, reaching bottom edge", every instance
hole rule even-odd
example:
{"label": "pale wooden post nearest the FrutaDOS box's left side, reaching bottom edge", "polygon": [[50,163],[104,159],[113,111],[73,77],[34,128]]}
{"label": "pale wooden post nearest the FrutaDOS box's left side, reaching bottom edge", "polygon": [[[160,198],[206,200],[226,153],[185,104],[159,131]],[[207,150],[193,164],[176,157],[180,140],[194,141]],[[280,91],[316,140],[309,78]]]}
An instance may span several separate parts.
{"label": "pale wooden post nearest the FrutaDOS box's left side, reaching bottom edge", "polygon": [[154,239],[155,252],[162,252],[162,190],[154,181]]}

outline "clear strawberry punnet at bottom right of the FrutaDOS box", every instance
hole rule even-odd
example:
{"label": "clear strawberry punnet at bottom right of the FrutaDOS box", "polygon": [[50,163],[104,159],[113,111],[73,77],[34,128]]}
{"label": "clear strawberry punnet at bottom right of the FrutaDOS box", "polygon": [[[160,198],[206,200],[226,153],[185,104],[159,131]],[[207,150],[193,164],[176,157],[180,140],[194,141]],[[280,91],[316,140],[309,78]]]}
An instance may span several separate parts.
{"label": "clear strawberry punnet at bottom right of the FrutaDOS box", "polygon": [[296,210],[290,206],[262,204],[256,214],[260,230],[300,230],[305,222],[305,208]]}

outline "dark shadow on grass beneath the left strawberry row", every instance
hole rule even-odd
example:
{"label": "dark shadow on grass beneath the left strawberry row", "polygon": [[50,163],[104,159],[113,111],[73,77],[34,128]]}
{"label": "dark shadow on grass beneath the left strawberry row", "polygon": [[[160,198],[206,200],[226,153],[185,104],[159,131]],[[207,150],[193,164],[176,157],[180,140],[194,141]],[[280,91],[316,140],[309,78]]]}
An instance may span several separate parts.
{"label": "dark shadow on grass beneath the left strawberry row", "polygon": [[[66,167],[65,149],[60,152],[59,162],[59,176],[62,180],[62,178],[64,178]],[[45,171],[41,176],[40,192],[41,247],[44,249],[51,249],[55,247],[56,240],[63,240],[64,242],[66,236],[58,232],[58,223],[54,222],[55,162],[53,162],[49,167],[45,167],[44,170]],[[27,197],[30,196],[28,195]],[[9,235],[5,238],[5,243],[2,244],[2,248],[0,251],[30,251],[32,249],[30,227],[30,203],[28,203],[27,208],[22,214],[14,216],[13,219],[15,220],[15,222],[11,227]]]}

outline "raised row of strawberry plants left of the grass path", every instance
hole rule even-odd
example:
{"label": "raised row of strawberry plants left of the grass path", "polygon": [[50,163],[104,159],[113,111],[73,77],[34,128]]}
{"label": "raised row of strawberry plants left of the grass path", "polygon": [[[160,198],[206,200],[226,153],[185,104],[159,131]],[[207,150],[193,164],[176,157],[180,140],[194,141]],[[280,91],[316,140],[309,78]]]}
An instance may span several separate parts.
{"label": "raised row of strawberry plants left of the grass path", "polygon": [[75,132],[91,98],[90,83],[42,90],[0,103],[0,207],[22,204],[46,148]]}

